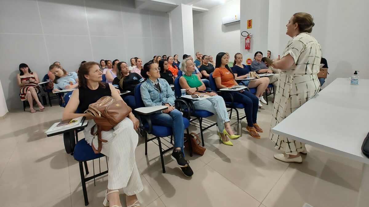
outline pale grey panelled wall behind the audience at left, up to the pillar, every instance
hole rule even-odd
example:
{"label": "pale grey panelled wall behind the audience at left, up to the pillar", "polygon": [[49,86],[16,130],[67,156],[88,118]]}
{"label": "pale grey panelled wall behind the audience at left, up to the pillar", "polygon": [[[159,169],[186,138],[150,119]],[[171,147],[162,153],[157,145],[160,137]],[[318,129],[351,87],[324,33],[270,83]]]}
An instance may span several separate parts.
{"label": "pale grey panelled wall behind the audience at left, up to the pillar", "polygon": [[9,109],[20,108],[16,75],[27,63],[41,78],[55,61],[171,55],[169,15],[136,10],[133,0],[1,0],[0,79]]}

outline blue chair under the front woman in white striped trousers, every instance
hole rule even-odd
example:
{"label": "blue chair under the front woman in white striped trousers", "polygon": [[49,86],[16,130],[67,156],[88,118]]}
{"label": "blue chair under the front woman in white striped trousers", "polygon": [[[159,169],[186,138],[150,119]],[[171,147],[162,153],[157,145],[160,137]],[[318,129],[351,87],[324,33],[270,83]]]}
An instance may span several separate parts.
{"label": "blue chair under the front woman in white striped trousers", "polygon": [[[72,94],[72,91],[66,94],[66,97],[64,99],[65,105],[63,107],[67,105],[69,98],[70,98],[70,94]],[[80,112],[80,110],[77,108],[76,113],[83,113],[83,112]],[[78,140],[78,132],[83,131],[84,128],[85,127],[79,127],[76,130],[67,131],[63,133],[63,139],[64,139],[65,151],[67,152],[67,154],[73,155],[73,158],[79,162],[79,172],[81,176],[83,198],[85,199],[85,206],[87,206],[89,204],[89,200],[87,197],[86,182],[93,179],[94,185],[96,185],[95,178],[101,175],[105,175],[106,173],[108,173],[108,170],[103,171],[103,172],[101,172],[100,170],[100,173],[95,175],[95,169],[94,169],[93,171],[94,175],[85,177],[85,172],[83,170],[83,164],[85,165],[86,175],[88,175],[89,169],[87,167],[87,161],[99,159],[99,165],[100,165],[100,158],[105,157],[105,155],[101,153],[95,154],[91,145],[87,143],[85,138],[83,138],[82,140]],[[93,163],[93,168],[94,168],[94,162],[92,161],[92,163]],[[107,159],[106,159],[106,165],[108,166]]]}

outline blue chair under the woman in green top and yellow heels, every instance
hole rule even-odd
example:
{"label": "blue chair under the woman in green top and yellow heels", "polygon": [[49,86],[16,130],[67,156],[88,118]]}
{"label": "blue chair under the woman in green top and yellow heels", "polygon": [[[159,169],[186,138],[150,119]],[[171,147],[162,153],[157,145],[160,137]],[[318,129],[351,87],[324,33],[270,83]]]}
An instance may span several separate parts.
{"label": "blue chair under the woman in green top and yellow heels", "polygon": [[[178,76],[174,80],[174,93],[175,93],[175,96],[176,96],[177,99],[182,99],[181,98],[181,95],[182,95],[181,94],[181,89],[182,88],[179,84],[179,79],[180,79],[180,77]],[[214,91],[209,91],[209,92],[214,92]],[[176,105],[176,108],[178,110],[181,110],[183,113],[189,113],[190,116],[196,117],[196,119],[192,119],[191,122],[193,122],[195,120],[199,120],[201,141],[203,142],[203,146],[205,146],[203,131],[209,129],[210,127],[216,125],[217,123],[216,122],[212,123],[212,122],[206,121],[205,122],[206,127],[203,128],[203,126],[202,126],[203,125],[203,118],[213,116],[214,113],[208,112],[207,110],[196,110],[192,101],[186,100],[186,99],[183,99],[183,100],[186,101],[189,104],[190,109],[186,108],[186,105],[184,105],[184,104],[180,104],[178,106]],[[196,125],[194,125],[194,126],[196,126]]]}

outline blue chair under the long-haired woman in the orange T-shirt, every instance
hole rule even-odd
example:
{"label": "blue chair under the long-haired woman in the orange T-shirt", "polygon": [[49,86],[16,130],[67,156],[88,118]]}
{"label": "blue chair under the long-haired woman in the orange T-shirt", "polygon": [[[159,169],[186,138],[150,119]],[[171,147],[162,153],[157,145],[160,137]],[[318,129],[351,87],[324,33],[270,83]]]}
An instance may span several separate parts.
{"label": "blue chair under the long-haired woman in the orange T-shirt", "polygon": [[[229,110],[230,111],[230,119],[232,117],[232,111],[234,110],[236,112],[237,134],[240,135],[240,136],[242,136],[241,120],[244,119],[244,118],[246,118],[246,115],[245,116],[242,116],[242,117],[239,117],[240,112],[238,112],[237,109],[243,109],[244,108],[244,105],[242,105],[242,103],[235,102],[235,100],[233,100],[233,97],[232,97],[232,95],[229,92],[227,92],[227,91],[219,91],[218,90],[218,87],[215,84],[215,80],[213,78],[213,73],[210,73],[209,81],[210,81],[211,90],[217,91],[218,94],[224,94],[224,95],[228,95],[230,97],[231,102],[225,101],[225,106],[227,106],[227,108],[230,108],[230,110]],[[246,88],[246,90],[248,90],[248,88]]]}

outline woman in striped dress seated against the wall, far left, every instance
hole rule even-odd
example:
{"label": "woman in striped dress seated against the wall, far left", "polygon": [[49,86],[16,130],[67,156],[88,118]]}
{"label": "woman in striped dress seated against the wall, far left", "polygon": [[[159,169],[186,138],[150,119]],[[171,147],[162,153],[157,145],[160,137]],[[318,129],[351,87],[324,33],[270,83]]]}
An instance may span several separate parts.
{"label": "woman in striped dress seated against the wall, far left", "polygon": [[37,85],[40,83],[37,73],[32,72],[25,63],[19,65],[19,71],[20,74],[17,74],[17,81],[21,88],[19,93],[21,100],[27,100],[30,103],[31,113],[36,113],[36,110],[33,108],[33,99],[35,99],[38,108],[44,110],[45,107],[42,106],[37,97],[37,93],[40,91],[40,87]]}

